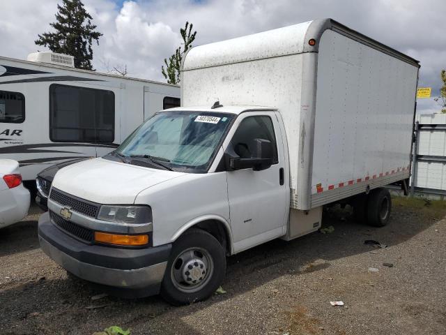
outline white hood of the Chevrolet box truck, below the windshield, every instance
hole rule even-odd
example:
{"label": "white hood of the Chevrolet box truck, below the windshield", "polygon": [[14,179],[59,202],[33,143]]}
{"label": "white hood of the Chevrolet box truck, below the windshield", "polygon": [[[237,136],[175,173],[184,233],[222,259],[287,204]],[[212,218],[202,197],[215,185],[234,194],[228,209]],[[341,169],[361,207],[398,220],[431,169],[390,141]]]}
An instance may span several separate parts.
{"label": "white hood of the Chevrolet box truck, below the windshield", "polygon": [[100,204],[132,204],[139,192],[184,174],[95,158],[59,170],[52,187]]}

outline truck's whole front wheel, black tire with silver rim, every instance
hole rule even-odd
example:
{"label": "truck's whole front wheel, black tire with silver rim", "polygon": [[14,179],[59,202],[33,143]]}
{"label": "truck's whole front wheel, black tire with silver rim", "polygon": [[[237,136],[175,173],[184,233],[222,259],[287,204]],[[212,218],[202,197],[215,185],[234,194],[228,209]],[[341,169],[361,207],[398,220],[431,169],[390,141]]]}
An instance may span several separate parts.
{"label": "truck's whole front wheel, black tire with silver rim", "polygon": [[208,232],[192,229],[172,247],[161,295],[174,305],[207,299],[220,286],[225,272],[222,244]]}

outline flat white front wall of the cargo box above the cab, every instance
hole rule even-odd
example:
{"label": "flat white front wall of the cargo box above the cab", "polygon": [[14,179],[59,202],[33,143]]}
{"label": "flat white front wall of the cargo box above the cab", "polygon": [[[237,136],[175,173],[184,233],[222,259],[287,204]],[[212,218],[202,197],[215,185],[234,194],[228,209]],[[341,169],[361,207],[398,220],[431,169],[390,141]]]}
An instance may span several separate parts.
{"label": "flat white front wall of the cargo box above the cab", "polygon": [[284,119],[290,153],[291,188],[297,186],[302,54],[187,70],[183,106],[259,105],[277,108]]}

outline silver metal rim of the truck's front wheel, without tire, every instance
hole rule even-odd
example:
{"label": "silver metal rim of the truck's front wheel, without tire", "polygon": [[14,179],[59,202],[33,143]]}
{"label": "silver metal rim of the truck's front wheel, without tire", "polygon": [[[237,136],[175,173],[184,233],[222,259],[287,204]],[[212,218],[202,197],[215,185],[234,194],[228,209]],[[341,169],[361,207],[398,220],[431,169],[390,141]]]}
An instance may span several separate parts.
{"label": "silver metal rim of the truck's front wheel, without tire", "polygon": [[187,293],[197,292],[206,285],[213,273],[213,260],[203,248],[189,248],[176,258],[171,267],[174,286]]}

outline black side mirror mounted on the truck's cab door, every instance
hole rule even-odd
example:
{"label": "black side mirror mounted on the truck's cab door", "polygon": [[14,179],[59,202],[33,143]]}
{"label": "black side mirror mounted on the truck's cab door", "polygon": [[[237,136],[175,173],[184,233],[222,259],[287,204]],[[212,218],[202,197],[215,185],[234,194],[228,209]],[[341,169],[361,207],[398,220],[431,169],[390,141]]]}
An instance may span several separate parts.
{"label": "black side mirror mounted on the truck's cab door", "polygon": [[272,165],[273,149],[269,140],[254,139],[251,158],[240,158],[233,149],[224,153],[227,170],[252,168],[254,171],[266,170]]}

